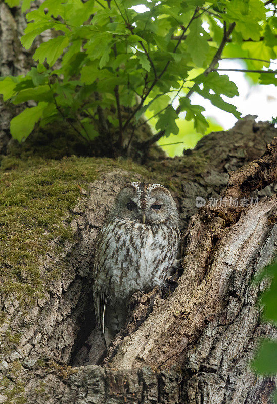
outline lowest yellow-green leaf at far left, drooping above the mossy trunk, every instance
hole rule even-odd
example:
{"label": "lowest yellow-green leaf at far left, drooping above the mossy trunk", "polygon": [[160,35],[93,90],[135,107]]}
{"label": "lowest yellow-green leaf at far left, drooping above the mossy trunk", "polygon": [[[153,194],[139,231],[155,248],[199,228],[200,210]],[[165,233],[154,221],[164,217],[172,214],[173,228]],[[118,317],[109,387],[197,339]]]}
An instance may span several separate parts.
{"label": "lowest yellow-green leaf at far left, drooping above the mossy trunk", "polygon": [[36,107],[26,108],[11,120],[10,131],[14,139],[22,142],[29,136],[47,104],[41,102]]}

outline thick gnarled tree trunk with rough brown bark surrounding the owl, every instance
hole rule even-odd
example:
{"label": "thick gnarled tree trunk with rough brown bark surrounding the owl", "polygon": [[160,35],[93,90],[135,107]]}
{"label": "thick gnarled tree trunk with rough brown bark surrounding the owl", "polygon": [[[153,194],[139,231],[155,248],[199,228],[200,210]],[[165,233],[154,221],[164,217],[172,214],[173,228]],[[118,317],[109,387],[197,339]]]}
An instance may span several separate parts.
{"label": "thick gnarled tree trunk with rough brown bark surrounding the owl", "polygon": [[[6,46],[1,72],[10,73],[12,64],[22,73],[28,54],[11,49],[24,21],[16,8],[2,3],[0,11]],[[1,108],[5,154],[16,111]],[[37,258],[42,287],[27,306],[20,294],[9,291],[12,267],[4,262],[0,403],[270,402],[274,379],[257,377],[249,363],[259,337],[276,336],[256,306],[267,283],[252,282],[272,260],[277,243],[276,134],[272,125],[246,117],[230,131],[205,136],[182,157],[148,161],[146,169],[131,161],[98,159],[93,181],[80,169],[76,181],[85,185],[68,212],[73,237],[49,234],[45,255]],[[95,160],[74,158],[72,164],[76,171],[84,164],[88,170]],[[181,217],[182,258],[167,290],[135,293],[125,328],[104,358],[91,295],[94,240],[115,193],[132,180],[160,182],[172,191]],[[13,186],[12,180],[7,186]],[[195,203],[199,196],[206,199],[200,209]],[[218,197],[221,203],[210,206],[209,198]],[[243,198],[250,197],[258,197],[258,203],[243,206]],[[237,198],[238,206],[229,206],[231,198]],[[68,226],[66,217],[58,219]],[[37,240],[31,241],[26,250],[35,256]],[[50,279],[53,269],[56,275]]]}

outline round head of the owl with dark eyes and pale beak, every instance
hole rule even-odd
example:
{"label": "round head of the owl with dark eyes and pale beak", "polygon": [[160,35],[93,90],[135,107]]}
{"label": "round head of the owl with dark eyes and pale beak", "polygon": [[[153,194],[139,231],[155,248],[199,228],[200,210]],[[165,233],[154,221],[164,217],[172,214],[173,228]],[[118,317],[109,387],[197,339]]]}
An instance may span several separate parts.
{"label": "round head of the owl with dark eyes and pale beak", "polygon": [[108,220],[130,219],[142,224],[179,223],[179,214],[171,193],[163,185],[130,182],[118,192]]}

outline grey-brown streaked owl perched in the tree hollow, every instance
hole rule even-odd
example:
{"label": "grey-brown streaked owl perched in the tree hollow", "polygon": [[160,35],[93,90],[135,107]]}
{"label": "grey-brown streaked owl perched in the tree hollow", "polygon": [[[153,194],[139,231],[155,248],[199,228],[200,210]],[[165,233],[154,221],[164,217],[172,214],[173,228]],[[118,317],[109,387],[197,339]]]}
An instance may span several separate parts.
{"label": "grey-brown streaked owl perched in the tree hollow", "polygon": [[95,313],[106,349],[124,326],[132,294],[164,283],[179,241],[179,214],[164,186],[131,182],[121,188],[97,236],[93,269]]}

